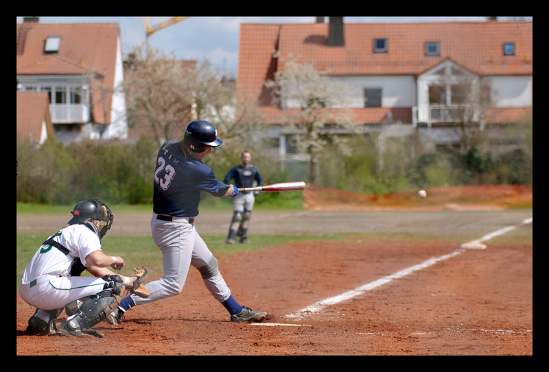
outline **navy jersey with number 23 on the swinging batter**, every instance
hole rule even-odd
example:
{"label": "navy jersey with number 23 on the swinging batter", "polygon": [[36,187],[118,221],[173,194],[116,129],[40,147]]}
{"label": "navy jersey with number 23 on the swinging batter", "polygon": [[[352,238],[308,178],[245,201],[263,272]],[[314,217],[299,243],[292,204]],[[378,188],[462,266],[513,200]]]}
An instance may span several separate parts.
{"label": "navy jersey with number 23 on the swinging batter", "polygon": [[166,146],[167,142],[156,159],[152,209],[156,214],[197,216],[200,191],[222,197],[230,186],[219,182],[211,168],[200,160],[192,156],[185,159],[179,142]]}

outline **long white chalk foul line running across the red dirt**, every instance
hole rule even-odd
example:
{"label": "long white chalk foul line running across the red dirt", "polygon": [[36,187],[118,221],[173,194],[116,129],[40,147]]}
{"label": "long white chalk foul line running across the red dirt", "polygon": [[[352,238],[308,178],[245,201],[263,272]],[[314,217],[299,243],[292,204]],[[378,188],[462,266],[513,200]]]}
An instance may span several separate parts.
{"label": "long white chalk foul line running across the red dirt", "polygon": [[[524,225],[525,223],[530,223],[530,222],[532,222],[531,218],[530,219],[525,219],[519,225]],[[519,225],[517,225],[517,226],[519,226]],[[505,232],[513,230],[513,229],[517,228],[517,226],[504,227],[503,229],[500,229],[500,230],[497,230],[497,231],[492,232],[490,234],[484,235],[484,236],[482,236],[482,238],[480,238],[478,240],[473,240],[469,243],[480,243],[481,241],[489,240],[489,239],[493,238],[494,236],[498,236],[500,234],[504,234]],[[365,293],[369,290],[373,290],[374,288],[377,288],[379,286],[387,284],[388,282],[391,282],[395,279],[400,279],[401,277],[405,277],[406,275],[414,273],[415,271],[425,269],[425,268],[427,268],[429,266],[432,266],[432,265],[434,265],[438,262],[441,262],[441,261],[447,260],[448,258],[452,258],[454,256],[457,256],[458,254],[462,253],[463,251],[465,251],[465,250],[464,249],[458,249],[457,251],[445,254],[444,256],[440,256],[440,257],[436,257],[436,258],[430,258],[429,260],[421,262],[421,264],[417,264],[415,266],[408,267],[408,269],[401,270],[398,273],[394,273],[392,275],[387,275],[386,277],[382,277],[381,279],[375,280],[374,282],[364,284],[363,286],[360,286],[360,287],[355,288],[353,290],[349,290],[345,293],[342,293],[341,295],[337,295],[337,296],[334,296],[334,297],[329,297],[327,299],[323,299],[322,301],[318,301],[317,303],[313,303],[312,305],[307,306],[306,308],[303,308],[303,309],[301,309],[297,312],[293,312],[292,314],[285,315],[285,318],[299,319],[299,318],[305,317],[305,315],[320,312],[320,310],[322,310],[326,306],[334,305],[336,303],[340,303],[340,302],[345,301],[347,299],[351,299],[353,297],[362,295],[363,293]]]}

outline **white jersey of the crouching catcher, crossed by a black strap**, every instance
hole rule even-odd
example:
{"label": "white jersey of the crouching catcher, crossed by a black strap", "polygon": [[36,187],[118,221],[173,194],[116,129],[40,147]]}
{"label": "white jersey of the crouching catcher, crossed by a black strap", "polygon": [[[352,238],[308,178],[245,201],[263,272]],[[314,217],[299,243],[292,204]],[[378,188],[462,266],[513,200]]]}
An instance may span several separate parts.
{"label": "white jersey of the crouching catcher, crossed by a black strap", "polygon": [[86,256],[93,251],[101,250],[99,236],[85,225],[65,227],[54,235],[54,240],[69,249],[69,254],[65,256],[65,253],[56,247],[42,245],[23,271],[21,283],[29,283],[40,275],[68,276],[74,258],[80,257],[82,264],[89,266]]}

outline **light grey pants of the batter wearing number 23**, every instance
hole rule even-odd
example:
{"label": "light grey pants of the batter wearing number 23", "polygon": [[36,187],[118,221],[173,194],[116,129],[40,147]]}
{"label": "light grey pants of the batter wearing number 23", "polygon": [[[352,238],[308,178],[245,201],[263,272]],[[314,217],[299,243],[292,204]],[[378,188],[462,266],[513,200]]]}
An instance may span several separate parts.
{"label": "light grey pants of the batter wearing number 23", "polygon": [[[156,219],[153,213],[150,221],[152,239],[162,251],[162,264],[164,275],[159,280],[145,284],[150,292],[146,299],[137,295],[131,295],[136,305],[144,305],[178,295],[183,290],[189,266],[197,269],[205,266],[212,258],[204,240],[196,232],[196,226],[187,219],[174,221],[162,221]],[[204,279],[204,284],[210,293],[220,302],[231,297],[231,290],[226,285],[221,273]]]}

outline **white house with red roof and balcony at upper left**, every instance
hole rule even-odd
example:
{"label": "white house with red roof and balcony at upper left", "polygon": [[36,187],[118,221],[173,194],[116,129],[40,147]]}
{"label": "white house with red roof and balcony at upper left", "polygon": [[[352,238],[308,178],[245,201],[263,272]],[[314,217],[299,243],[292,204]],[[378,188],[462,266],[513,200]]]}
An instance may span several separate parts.
{"label": "white house with red roof and balcony at upper left", "polygon": [[126,138],[124,95],[115,92],[124,79],[117,23],[25,17],[16,25],[16,75],[17,92],[47,94],[56,140]]}

